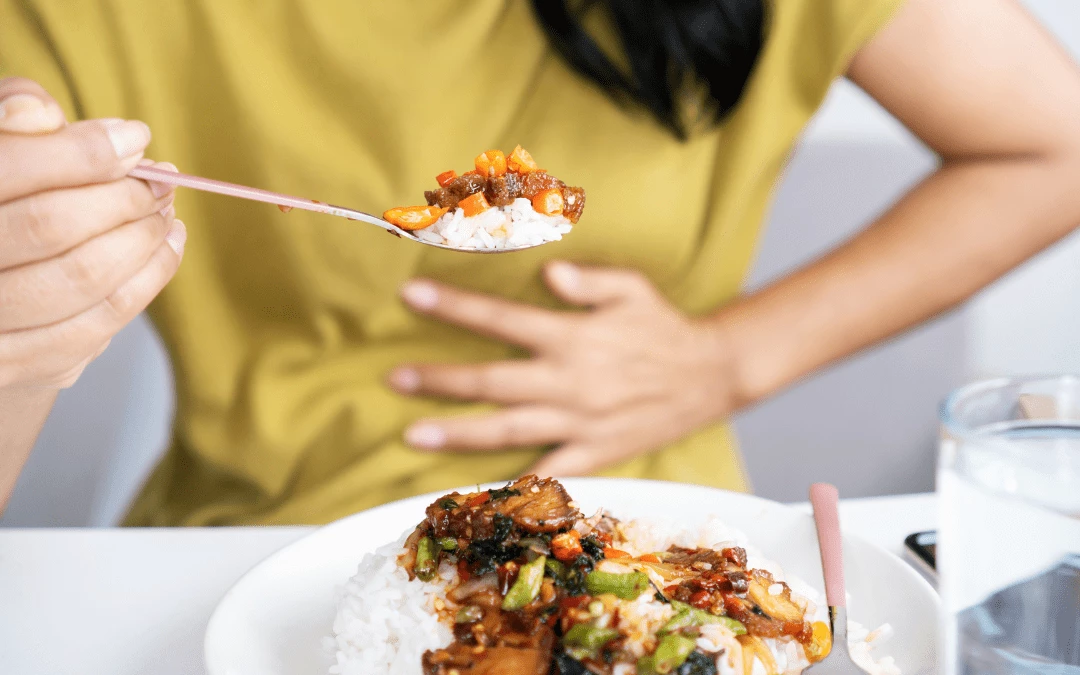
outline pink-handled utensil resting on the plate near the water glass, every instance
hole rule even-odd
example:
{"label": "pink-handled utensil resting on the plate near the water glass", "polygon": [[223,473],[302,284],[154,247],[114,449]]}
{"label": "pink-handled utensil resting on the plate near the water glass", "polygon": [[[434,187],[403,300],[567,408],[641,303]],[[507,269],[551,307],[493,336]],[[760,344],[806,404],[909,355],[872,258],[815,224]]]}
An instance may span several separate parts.
{"label": "pink-handled utensil resting on the plate near the water glass", "polygon": [[810,503],[818,526],[821,548],[821,569],[825,577],[825,602],[828,623],[833,631],[833,648],[828,656],[802,671],[804,675],[863,675],[848,651],[848,598],[843,591],[843,546],[840,540],[840,516],[837,507],[840,495],[828,483],[810,486]]}

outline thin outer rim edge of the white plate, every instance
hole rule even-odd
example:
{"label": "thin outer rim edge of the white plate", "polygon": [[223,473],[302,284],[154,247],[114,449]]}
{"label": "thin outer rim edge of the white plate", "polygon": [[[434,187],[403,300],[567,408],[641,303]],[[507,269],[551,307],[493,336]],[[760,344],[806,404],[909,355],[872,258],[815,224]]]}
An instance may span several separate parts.
{"label": "thin outer rim edge of the white plate", "polygon": [[[750,494],[750,492],[739,492],[739,491],[735,491],[735,490],[728,490],[728,489],[724,489],[724,488],[719,488],[719,487],[712,487],[712,486],[708,486],[708,485],[700,485],[700,484],[697,484],[697,483],[683,483],[683,482],[679,482],[679,481],[663,481],[663,480],[657,480],[657,478],[631,478],[631,477],[622,477],[622,476],[610,476],[610,477],[609,476],[595,476],[595,477],[593,477],[593,476],[580,476],[580,477],[558,478],[558,481],[561,483],[567,484],[568,486],[572,485],[573,483],[634,483],[634,484],[639,484],[639,485],[640,484],[645,484],[645,485],[664,485],[664,486],[669,486],[669,487],[671,487],[671,486],[680,486],[680,487],[692,488],[694,490],[703,490],[703,491],[706,491],[706,492],[719,492],[719,494],[725,494],[725,495],[734,495],[734,496],[738,496],[740,498],[747,499],[750,501],[759,502],[759,504],[761,507],[766,507],[766,508],[770,508],[770,509],[780,509],[780,510],[783,510],[783,511],[788,511],[788,512],[792,512],[792,513],[795,513],[795,514],[798,514],[798,515],[801,515],[801,516],[807,516],[807,517],[810,517],[810,518],[813,517],[812,513],[811,514],[807,514],[804,511],[801,511],[799,509],[796,509],[795,507],[793,507],[791,504],[787,504],[787,503],[784,503],[784,502],[775,501],[775,500],[772,500],[772,499],[766,499],[765,497],[758,497],[757,495],[753,495],[753,494]],[[211,672],[211,662],[210,662],[211,635],[214,632],[215,624],[218,621],[220,621],[220,616],[221,616],[222,609],[226,607],[228,600],[237,593],[237,589],[240,588],[242,584],[244,584],[248,579],[251,579],[259,568],[261,568],[261,567],[264,567],[266,565],[272,564],[272,562],[274,559],[276,559],[278,557],[284,555],[287,550],[289,550],[289,549],[292,549],[294,546],[298,546],[302,542],[306,542],[307,540],[309,540],[311,538],[314,538],[315,536],[324,536],[325,532],[330,531],[333,529],[337,529],[338,527],[343,526],[343,524],[346,524],[346,523],[348,523],[348,522],[350,522],[350,521],[352,521],[352,519],[354,519],[354,518],[356,518],[359,516],[368,515],[368,514],[372,514],[372,513],[378,513],[378,512],[383,511],[383,510],[389,510],[392,507],[396,507],[401,502],[411,501],[411,500],[421,501],[421,500],[424,500],[424,499],[435,499],[437,497],[446,495],[447,492],[461,491],[461,490],[472,490],[474,487],[480,487],[481,489],[490,489],[492,487],[502,487],[502,486],[507,485],[510,482],[512,482],[512,481],[509,481],[509,482],[508,481],[497,481],[497,482],[490,482],[490,483],[481,483],[481,484],[474,484],[474,485],[469,485],[469,486],[459,486],[459,487],[449,488],[449,489],[434,490],[434,491],[424,492],[424,494],[421,494],[421,495],[414,495],[411,497],[403,497],[401,499],[395,499],[393,501],[388,501],[386,503],[381,503],[381,504],[378,504],[376,507],[372,507],[369,509],[364,509],[364,510],[361,510],[361,511],[356,511],[355,513],[351,513],[349,515],[342,516],[342,517],[340,517],[340,518],[338,518],[336,521],[332,521],[330,523],[326,523],[325,525],[318,526],[318,527],[315,527],[314,530],[307,532],[302,537],[300,537],[298,539],[295,539],[295,540],[293,540],[293,541],[291,541],[288,543],[283,544],[281,548],[274,550],[273,552],[269,553],[268,555],[264,556],[260,561],[258,561],[257,563],[255,563],[254,565],[252,565],[243,575],[240,576],[240,578],[238,578],[232,583],[232,585],[229,586],[229,590],[226,591],[221,595],[221,597],[218,599],[217,604],[214,606],[214,611],[211,612],[210,620],[206,622],[206,630],[203,633],[203,640],[202,640],[203,642],[203,666],[206,669],[207,672]],[[568,487],[568,491],[571,491],[569,489],[569,487]],[[878,553],[885,554],[886,556],[891,557],[891,558],[895,558],[895,561],[897,563],[900,563],[901,567],[904,569],[904,573],[906,576],[910,577],[915,581],[916,585],[921,585],[924,591],[928,591],[929,592],[929,596],[931,597],[931,599],[932,599],[935,608],[939,609],[939,610],[941,609],[941,595],[939,594],[937,590],[934,589],[934,586],[929,581],[927,581],[927,579],[922,575],[920,575],[917,569],[915,569],[914,567],[912,567],[912,565],[908,564],[903,557],[896,555],[892,551],[889,551],[885,546],[882,546],[882,545],[880,545],[878,543],[875,543],[875,542],[866,539],[862,535],[859,535],[859,534],[855,534],[855,532],[851,532],[850,530],[845,529],[842,526],[840,528],[840,535],[841,535],[841,541],[842,542],[847,542],[847,541],[858,542],[860,545],[869,546],[870,549],[876,550]],[[359,562],[357,562],[357,564],[359,564]]]}

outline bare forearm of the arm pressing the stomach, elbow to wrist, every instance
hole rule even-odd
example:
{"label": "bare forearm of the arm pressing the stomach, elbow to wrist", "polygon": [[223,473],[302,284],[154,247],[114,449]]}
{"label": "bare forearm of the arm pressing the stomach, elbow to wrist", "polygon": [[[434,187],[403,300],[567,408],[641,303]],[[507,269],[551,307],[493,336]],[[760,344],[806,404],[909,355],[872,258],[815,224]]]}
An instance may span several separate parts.
{"label": "bare forearm of the arm pressing the stomach, elbow to wrist", "polygon": [[738,405],[955,307],[1067,234],[1076,157],[946,162],[847,244],[724,309]]}

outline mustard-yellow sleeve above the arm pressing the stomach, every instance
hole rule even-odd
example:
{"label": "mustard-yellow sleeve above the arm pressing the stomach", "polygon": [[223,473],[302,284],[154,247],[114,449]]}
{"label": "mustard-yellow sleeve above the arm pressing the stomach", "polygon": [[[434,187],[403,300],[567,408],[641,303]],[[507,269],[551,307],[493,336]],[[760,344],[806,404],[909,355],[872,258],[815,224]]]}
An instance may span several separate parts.
{"label": "mustard-yellow sleeve above the arm pressing the stomach", "polygon": [[788,60],[800,97],[812,106],[842,76],[904,0],[770,0],[767,50]]}

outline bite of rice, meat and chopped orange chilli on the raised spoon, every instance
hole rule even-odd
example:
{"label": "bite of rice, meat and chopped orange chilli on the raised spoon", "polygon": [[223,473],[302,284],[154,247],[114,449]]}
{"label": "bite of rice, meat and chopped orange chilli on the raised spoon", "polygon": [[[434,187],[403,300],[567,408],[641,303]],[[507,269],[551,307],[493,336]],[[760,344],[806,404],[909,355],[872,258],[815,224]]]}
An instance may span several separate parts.
{"label": "bite of rice, meat and chopped orange chilli on the raised spoon", "polygon": [[438,174],[427,206],[391,208],[382,218],[423,241],[475,249],[557,241],[581,218],[585,191],[540,168],[521,146],[509,157],[488,150],[473,164],[461,175]]}

